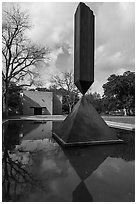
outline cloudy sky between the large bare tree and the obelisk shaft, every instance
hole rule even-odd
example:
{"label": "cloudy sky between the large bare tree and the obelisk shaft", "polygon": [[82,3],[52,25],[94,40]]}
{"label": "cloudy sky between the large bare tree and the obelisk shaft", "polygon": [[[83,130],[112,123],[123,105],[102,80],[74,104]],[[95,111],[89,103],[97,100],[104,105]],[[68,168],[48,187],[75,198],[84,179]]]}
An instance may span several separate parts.
{"label": "cloudy sky between the large bare tree and the obelisk shaft", "polygon": [[[73,14],[77,3],[21,3],[30,13],[28,36],[51,48],[50,66],[40,69],[42,81],[73,69]],[[41,71],[42,70],[42,71]],[[45,79],[44,79],[45,75]]]}

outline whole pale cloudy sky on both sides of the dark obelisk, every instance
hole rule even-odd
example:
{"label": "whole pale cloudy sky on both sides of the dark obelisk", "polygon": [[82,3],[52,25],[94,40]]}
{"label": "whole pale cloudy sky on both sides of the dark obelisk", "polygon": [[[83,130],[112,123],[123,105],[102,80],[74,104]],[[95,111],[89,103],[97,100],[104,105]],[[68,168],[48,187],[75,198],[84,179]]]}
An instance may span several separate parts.
{"label": "whole pale cloudy sky on both sides of the dark obelisk", "polygon": [[[86,3],[86,2],[85,2]],[[3,7],[13,3],[3,3]],[[43,82],[50,74],[74,68],[74,13],[78,2],[18,3],[33,25],[28,36],[51,48],[51,61],[40,66]],[[96,18],[95,82],[92,91],[103,94],[110,74],[135,69],[135,3],[87,2]]]}

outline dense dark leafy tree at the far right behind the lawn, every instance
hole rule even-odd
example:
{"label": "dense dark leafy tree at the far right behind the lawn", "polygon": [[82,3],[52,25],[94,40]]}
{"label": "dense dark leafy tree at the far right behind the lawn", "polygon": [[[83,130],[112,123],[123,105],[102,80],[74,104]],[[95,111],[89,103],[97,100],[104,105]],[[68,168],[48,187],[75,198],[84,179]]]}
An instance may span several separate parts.
{"label": "dense dark leafy tree at the far right behind the lawn", "polygon": [[111,75],[103,85],[103,103],[108,111],[125,109],[127,114],[135,109],[135,73],[124,72],[123,75]]}

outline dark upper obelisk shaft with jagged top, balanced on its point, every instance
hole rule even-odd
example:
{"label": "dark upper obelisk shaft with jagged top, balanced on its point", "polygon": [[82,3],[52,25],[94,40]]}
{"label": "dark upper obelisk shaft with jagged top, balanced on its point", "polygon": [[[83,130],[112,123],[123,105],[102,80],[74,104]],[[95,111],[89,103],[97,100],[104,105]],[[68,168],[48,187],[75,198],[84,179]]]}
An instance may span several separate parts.
{"label": "dark upper obelisk shaft with jagged top, balanced on its point", "polygon": [[75,13],[74,83],[85,94],[94,82],[94,15],[84,3]]}

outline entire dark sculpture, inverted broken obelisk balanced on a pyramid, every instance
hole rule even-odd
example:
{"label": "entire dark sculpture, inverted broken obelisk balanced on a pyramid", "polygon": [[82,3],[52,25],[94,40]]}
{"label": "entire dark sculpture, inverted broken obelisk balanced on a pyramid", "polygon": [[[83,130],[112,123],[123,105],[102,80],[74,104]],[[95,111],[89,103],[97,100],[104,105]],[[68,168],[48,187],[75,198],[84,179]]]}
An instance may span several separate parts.
{"label": "entire dark sculpture, inverted broken obelisk balanced on a pyramid", "polygon": [[84,3],[75,13],[74,82],[82,98],[53,132],[62,146],[121,143],[84,94],[94,82],[94,15]]}

